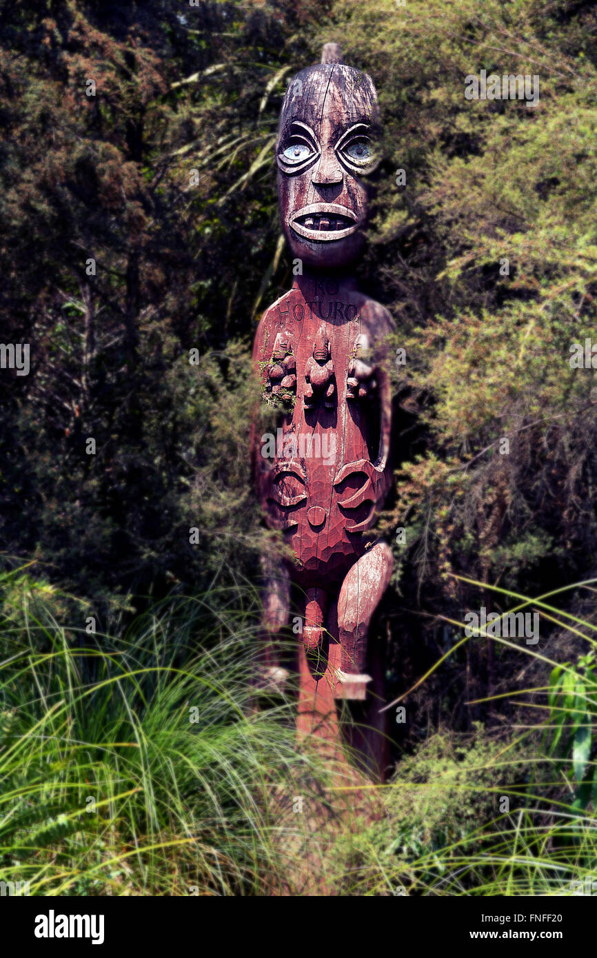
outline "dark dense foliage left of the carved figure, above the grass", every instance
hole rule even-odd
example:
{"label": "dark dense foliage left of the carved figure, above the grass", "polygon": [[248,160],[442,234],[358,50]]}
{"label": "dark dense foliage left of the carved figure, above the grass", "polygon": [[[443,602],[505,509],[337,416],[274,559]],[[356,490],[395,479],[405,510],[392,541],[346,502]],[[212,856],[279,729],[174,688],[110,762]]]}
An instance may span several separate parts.
{"label": "dark dense foliage left of the carved figure, above the grass", "polygon": [[3,546],[96,603],[197,587],[250,552],[246,355],[274,198],[268,176],[233,188],[271,142],[279,97],[259,103],[285,23],[179,8],[0,19],[3,336],[32,362],[0,383]]}

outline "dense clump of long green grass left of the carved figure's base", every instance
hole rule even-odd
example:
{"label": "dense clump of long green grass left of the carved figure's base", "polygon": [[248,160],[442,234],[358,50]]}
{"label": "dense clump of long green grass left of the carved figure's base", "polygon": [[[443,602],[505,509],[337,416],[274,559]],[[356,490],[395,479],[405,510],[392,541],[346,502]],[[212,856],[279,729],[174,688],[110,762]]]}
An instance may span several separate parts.
{"label": "dense clump of long green grass left of the carved figure's base", "polygon": [[252,708],[256,596],[172,598],[116,634],[88,633],[85,610],[64,627],[62,597],[23,569],[0,596],[0,881],[32,895],[287,890],[281,847],[305,816],[285,809],[325,775],[296,747],[290,701]]}

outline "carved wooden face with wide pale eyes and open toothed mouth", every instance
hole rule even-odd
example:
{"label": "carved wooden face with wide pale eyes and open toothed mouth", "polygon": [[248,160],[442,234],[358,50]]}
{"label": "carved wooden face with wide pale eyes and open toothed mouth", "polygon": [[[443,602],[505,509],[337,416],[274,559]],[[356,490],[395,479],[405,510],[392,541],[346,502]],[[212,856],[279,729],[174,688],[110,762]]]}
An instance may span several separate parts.
{"label": "carved wooden face with wide pale eyes and open toothed mouth", "polygon": [[310,67],[290,82],[277,143],[280,216],[292,254],[333,268],[357,259],[367,218],[363,177],[376,166],[372,80],[349,66]]}

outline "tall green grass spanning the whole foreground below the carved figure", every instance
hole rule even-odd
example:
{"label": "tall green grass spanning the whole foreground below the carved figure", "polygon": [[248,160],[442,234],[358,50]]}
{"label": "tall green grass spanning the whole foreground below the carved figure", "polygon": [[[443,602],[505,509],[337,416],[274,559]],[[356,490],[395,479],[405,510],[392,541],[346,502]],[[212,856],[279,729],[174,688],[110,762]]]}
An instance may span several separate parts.
{"label": "tall green grass spanning the whole foreground below the carved figure", "polygon": [[[531,604],[501,591],[515,610]],[[544,675],[507,693],[513,727],[441,728],[372,787],[373,814],[359,799],[351,817],[333,796],[361,786],[297,748],[292,696],[254,708],[250,588],[172,597],[88,633],[88,610],[27,569],[3,573],[0,881],[32,895],[591,890],[597,628],[554,598],[532,604],[575,643],[569,661],[494,638]]]}

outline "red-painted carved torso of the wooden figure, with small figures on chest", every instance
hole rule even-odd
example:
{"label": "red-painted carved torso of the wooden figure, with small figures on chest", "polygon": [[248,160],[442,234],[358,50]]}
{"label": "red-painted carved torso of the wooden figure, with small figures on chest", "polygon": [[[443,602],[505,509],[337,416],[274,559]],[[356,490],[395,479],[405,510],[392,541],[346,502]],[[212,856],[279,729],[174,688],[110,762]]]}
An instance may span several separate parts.
{"label": "red-painted carved torso of the wooden figure, with small figures on chest", "polygon": [[258,457],[260,493],[304,587],[343,578],[388,490],[380,364],[392,329],[387,310],[353,283],[298,277],[257,331],[264,397],[285,413],[275,451],[262,450],[273,456]]}

